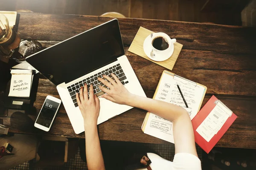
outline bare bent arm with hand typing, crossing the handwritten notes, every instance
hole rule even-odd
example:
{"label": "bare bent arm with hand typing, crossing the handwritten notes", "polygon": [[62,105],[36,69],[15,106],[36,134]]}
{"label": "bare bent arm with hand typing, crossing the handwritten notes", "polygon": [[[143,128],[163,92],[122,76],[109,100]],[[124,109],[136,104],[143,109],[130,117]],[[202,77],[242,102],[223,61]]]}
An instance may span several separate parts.
{"label": "bare bent arm with hand typing, crossing the handwritten notes", "polygon": [[[106,89],[99,86],[99,88],[106,93],[102,95],[103,98],[118,104],[141,108],[172,121],[175,152],[191,153],[197,156],[192,123],[185,109],[177,105],[172,105],[171,103],[131,94],[114,74],[111,74],[111,76],[114,77],[116,82],[105,75],[103,77],[108,81],[99,78],[99,80],[109,88]],[[111,82],[111,84],[109,82]]]}

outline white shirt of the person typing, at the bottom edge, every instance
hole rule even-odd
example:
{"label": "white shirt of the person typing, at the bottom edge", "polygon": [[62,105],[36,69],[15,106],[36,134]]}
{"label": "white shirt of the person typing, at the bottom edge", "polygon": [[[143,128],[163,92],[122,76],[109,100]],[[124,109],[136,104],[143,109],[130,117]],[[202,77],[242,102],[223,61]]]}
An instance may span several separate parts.
{"label": "white shirt of the person typing, at the bottom edge", "polygon": [[173,161],[163,159],[154,153],[148,153],[148,158],[152,162],[152,170],[202,170],[200,159],[190,153],[176,153]]}

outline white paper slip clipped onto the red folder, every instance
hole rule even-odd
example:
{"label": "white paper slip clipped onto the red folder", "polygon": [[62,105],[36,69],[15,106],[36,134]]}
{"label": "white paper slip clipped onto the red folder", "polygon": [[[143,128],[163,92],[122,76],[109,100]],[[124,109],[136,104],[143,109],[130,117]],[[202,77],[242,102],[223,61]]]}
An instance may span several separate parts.
{"label": "white paper slip clipped onto the red folder", "polygon": [[219,101],[196,131],[209,142],[231,115],[232,111]]}

